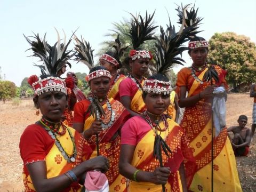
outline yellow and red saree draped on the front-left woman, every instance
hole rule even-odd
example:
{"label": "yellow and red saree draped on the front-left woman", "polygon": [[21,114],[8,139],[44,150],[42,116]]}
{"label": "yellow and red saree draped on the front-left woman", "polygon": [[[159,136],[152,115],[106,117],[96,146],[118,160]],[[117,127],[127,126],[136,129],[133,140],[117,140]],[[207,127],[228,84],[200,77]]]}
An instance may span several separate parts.
{"label": "yellow and red saree draped on the front-left woman", "polygon": [[[91,153],[90,147],[87,146],[87,149],[85,148],[85,139],[82,137],[82,135],[78,132],[76,132],[74,129],[72,129],[71,127],[68,127],[67,129],[69,129],[71,135],[73,135],[74,139],[75,139],[75,146],[76,146],[76,160],[75,162],[70,162],[68,163],[67,160],[63,157],[63,155],[61,154],[61,151],[59,150],[59,148],[54,144],[54,140],[52,140],[50,138],[50,135],[39,125],[33,125],[38,126],[38,132],[40,132],[39,134],[45,135],[46,138],[41,138],[46,140],[46,146],[42,146],[44,149],[47,148],[47,145],[52,145],[49,151],[45,151],[46,156],[44,159],[38,159],[35,160],[36,161],[45,161],[46,163],[46,177],[47,178],[53,178],[53,177],[57,177],[58,175],[64,174],[65,172],[67,172],[68,170],[73,169],[74,167],[76,167],[78,164],[80,164],[82,161],[86,160],[90,154],[86,154],[86,151],[83,150],[87,150],[87,153]],[[61,143],[62,148],[66,151],[66,153],[68,154],[68,156],[71,156],[73,154],[74,148],[73,148],[73,143],[71,141],[70,135],[69,135],[69,131],[66,131],[66,133],[64,135],[61,135],[61,137],[59,138],[59,141]],[[49,138],[50,139],[49,139]],[[28,138],[27,138],[28,139]],[[29,139],[34,139],[34,138],[29,138]],[[49,143],[49,141],[51,143]],[[22,142],[23,143],[23,142]],[[21,143],[21,145],[23,145]],[[33,142],[34,143],[34,142]],[[39,145],[39,142],[37,142],[37,144]],[[24,146],[25,147],[25,146]],[[28,147],[26,147],[28,148]],[[35,148],[35,147],[33,147]],[[23,147],[21,147],[21,151],[23,150]],[[29,149],[28,149],[29,150]],[[31,151],[31,154],[36,155],[38,153],[39,149],[33,149],[33,151]],[[39,158],[39,157],[38,157]],[[31,162],[32,163],[32,162]],[[25,162],[26,164],[26,162]],[[27,171],[27,169],[25,169],[25,166],[23,168],[23,183],[25,186],[25,191],[36,191],[33,185],[33,182],[31,180],[31,177]],[[78,182],[73,182],[71,183],[71,185],[66,188],[65,190],[62,191],[81,191],[82,186],[78,184]]]}

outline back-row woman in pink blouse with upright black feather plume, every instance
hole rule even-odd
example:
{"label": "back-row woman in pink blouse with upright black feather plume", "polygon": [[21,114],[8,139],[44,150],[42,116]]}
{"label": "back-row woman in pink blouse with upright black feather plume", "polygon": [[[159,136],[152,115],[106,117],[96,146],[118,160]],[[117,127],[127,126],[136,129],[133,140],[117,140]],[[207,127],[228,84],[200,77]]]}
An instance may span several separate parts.
{"label": "back-row woman in pink blouse with upright black feather plume", "polygon": [[[142,85],[144,75],[148,70],[149,61],[153,59],[150,51],[141,50],[141,45],[146,40],[155,39],[152,15],[146,13],[146,17],[140,14],[138,18],[132,17],[131,28],[128,36],[131,38],[132,50],[130,50],[127,59],[127,65],[130,66],[130,75],[119,85],[120,102],[129,110],[132,116],[138,116],[145,110],[145,103],[142,100]],[[143,18],[143,19],[142,19]]]}

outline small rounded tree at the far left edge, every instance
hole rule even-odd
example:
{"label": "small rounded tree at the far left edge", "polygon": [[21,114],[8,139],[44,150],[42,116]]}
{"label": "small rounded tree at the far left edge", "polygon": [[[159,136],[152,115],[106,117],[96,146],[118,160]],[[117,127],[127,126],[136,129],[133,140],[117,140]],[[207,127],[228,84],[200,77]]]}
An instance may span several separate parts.
{"label": "small rounded tree at the far left edge", "polygon": [[5,103],[6,99],[14,98],[16,95],[16,85],[10,81],[0,81],[0,99]]}

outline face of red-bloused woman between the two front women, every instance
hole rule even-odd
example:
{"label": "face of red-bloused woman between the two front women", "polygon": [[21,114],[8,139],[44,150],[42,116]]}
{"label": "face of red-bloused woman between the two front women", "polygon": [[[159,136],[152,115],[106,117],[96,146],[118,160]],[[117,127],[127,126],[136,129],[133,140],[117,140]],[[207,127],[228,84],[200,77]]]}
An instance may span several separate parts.
{"label": "face of red-bloused woman between the two front women", "polygon": [[90,81],[90,87],[92,93],[95,94],[98,98],[107,97],[107,93],[110,87],[110,78],[109,77],[98,77]]}

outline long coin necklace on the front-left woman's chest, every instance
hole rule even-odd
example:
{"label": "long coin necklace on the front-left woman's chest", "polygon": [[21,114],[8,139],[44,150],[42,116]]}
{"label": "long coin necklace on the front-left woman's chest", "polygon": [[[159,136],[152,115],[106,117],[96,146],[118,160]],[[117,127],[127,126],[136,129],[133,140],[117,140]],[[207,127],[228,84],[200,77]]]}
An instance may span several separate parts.
{"label": "long coin necklace on the front-left woman's chest", "polygon": [[[43,118],[42,118],[43,119]],[[48,134],[51,136],[51,138],[53,140],[55,140],[55,145],[58,147],[61,155],[67,160],[68,163],[71,163],[71,162],[75,162],[76,161],[76,156],[77,156],[77,153],[76,153],[76,145],[75,145],[75,139],[73,137],[73,135],[71,134],[71,131],[69,130],[69,128],[67,126],[65,126],[63,124],[63,126],[65,127],[65,130],[67,129],[68,130],[68,134],[69,134],[69,137],[72,141],[72,144],[73,144],[73,153],[69,156],[69,154],[65,151],[65,149],[62,147],[61,143],[60,143],[60,140],[59,140],[59,137],[60,135],[58,135],[58,133],[54,132],[50,126],[46,125],[42,119],[39,121],[42,125],[44,125],[44,129],[48,132]]]}

